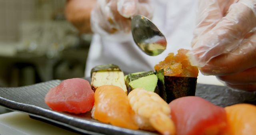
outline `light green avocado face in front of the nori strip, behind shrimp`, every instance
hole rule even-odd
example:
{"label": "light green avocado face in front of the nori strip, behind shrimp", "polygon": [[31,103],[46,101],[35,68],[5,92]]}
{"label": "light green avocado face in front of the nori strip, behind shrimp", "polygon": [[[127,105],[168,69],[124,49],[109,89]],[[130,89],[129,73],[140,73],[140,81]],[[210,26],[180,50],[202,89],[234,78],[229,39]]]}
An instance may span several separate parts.
{"label": "light green avocado face in front of the nori strip, behind shrimp", "polygon": [[155,92],[157,89],[158,78],[155,74],[140,77],[139,79],[133,80],[129,83],[132,89],[143,88],[147,91]]}

